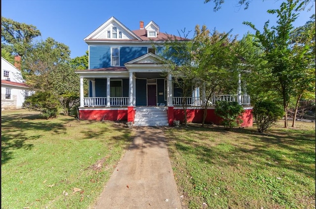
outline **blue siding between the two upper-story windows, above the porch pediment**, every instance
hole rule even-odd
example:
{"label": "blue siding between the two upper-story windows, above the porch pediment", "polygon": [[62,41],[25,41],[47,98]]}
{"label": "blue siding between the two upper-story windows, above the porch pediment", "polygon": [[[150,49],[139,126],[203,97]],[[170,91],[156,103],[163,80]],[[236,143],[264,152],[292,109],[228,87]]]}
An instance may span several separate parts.
{"label": "blue siding between the two upper-story windows, above the porch pediment", "polygon": [[129,62],[137,57],[147,54],[147,47],[120,47],[119,58],[120,65],[124,66],[124,63]]}

